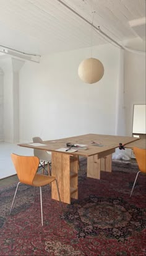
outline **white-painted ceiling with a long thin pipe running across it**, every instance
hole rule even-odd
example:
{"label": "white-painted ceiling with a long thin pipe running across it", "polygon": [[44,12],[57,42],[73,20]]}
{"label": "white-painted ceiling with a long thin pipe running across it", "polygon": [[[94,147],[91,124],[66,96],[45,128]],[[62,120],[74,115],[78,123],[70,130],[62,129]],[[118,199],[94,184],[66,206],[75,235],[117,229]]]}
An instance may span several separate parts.
{"label": "white-painted ceiling with a long thin pipe running across it", "polygon": [[109,42],[61,2],[116,42],[145,40],[140,25],[129,25],[145,17],[145,0],[0,0],[0,45],[45,55]]}

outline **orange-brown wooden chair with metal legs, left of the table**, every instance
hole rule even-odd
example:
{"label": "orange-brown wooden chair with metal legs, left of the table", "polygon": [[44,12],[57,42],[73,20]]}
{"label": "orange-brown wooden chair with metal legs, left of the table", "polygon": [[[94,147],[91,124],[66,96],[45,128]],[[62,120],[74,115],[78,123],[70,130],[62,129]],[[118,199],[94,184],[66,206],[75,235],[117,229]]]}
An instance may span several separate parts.
{"label": "orange-brown wooden chair with metal legs, left of the table", "polygon": [[[57,190],[58,190],[58,198],[61,204],[61,198],[60,198],[58,182],[56,180],[56,177],[37,174],[37,169],[39,166],[40,159],[36,156],[19,156],[17,154],[11,154],[11,159],[19,178],[19,183],[17,184],[15,195],[17,193],[17,189],[20,183],[31,185],[33,187],[40,187],[41,224],[43,226],[43,207],[42,207],[41,187],[55,181]],[[12,211],[12,207],[14,205],[15,195],[12,201],[10,214]]]}

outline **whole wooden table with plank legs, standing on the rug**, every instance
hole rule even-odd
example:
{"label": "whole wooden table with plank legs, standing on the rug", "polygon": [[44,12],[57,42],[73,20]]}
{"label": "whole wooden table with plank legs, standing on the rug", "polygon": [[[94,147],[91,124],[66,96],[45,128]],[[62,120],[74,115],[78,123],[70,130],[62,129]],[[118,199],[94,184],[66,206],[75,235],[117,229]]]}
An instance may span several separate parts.
{"label": "whole wooden table with plank legs, standing on the rug", "polygon": [[[71,198],[78,198],[79,156],[87,157],[87,177],[100,179],[100,172],[111,172],[112,154],[119,143],[126,146],[138,138],[129,136],[87,134],[62,139],[43,141],[41,144],[19,144],[25,148],[51,151],[51,174],[58,180],[61,201],[71,203]],[[84,145],[77,151],[60,151],[68,149],[67,143]],[[51,186],[51,198],[59,200],[56,187]]]}

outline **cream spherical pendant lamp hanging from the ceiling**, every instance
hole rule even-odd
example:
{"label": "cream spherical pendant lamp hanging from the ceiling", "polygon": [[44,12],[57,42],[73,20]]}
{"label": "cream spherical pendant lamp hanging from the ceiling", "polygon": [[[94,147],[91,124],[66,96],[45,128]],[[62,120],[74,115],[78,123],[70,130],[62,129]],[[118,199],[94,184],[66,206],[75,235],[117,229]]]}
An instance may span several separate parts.
{"label": "cream spherical pendant lamp hanging from the ceiling", "polygon": [[78,74],[82,81],[87,84],[94,84],[103,77],[103,64],[100,60],[95,58],[86,59],[80,63]]}

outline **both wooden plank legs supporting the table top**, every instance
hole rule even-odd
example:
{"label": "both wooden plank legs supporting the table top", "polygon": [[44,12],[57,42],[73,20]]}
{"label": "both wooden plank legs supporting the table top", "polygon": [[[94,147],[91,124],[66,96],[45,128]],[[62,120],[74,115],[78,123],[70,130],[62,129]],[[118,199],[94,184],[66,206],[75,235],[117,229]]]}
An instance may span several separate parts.
{"label": "both wooden plank legs supporting the table top", "polygon": [[[98,159],[98,155],[87,158],[87,177],[100,179],[100,171],[111,172],[111,154]],[[78,198],[79,157],[52,152],[51,172],[58,180],[61,201],[71,203],[71,198]],[[56,184],[51,185],[51,197],[59,201]]]}

